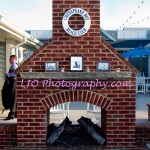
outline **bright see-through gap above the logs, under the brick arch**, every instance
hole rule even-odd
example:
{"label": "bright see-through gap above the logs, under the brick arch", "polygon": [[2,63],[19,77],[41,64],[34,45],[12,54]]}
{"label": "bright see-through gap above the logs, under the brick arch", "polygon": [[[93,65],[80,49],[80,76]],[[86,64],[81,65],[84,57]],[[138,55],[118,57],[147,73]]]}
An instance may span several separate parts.
{"label": "bright see-through gap above the logs, under the brick arch", "polygon": [[101,108],[90,103],[62,103],[51,107],[49,112],[49,123],[60,124],[67,116],[72,124],[77,124],[77,120],[84,116],[90,118],[98,126],[101,126]]}

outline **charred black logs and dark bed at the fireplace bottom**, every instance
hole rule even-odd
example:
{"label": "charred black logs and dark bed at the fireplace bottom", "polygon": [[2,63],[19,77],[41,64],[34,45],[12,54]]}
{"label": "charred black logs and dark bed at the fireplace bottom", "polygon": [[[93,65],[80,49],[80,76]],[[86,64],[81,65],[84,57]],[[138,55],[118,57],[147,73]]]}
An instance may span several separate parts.
{"label": "charred black logs and dark bed at the fireplace bottom", "polygon": [[47,129],[47,145],[58,147],[105,145],[106,139],[102,129],[91,119],[82,116],[78,122],[78,125],[72,125],[66,117],[59,126],[50,124]]}

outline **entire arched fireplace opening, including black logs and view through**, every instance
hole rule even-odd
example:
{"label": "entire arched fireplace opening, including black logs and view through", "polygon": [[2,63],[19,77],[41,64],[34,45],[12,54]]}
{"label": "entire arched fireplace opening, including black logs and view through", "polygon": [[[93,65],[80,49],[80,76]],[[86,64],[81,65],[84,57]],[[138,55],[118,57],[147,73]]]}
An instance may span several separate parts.
{"label": "entire arched fireplace opening, including black logs and view through", "polygon": [[100,146],[106,144],[101,128],[101,108],[84,102],[68,102],[48,110],[48,146]]}

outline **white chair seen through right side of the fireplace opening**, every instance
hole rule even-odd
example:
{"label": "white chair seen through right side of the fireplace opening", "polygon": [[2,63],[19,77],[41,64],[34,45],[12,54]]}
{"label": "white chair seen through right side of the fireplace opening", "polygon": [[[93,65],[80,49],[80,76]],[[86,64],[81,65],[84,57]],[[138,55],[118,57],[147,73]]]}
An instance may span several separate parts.
{"label": "white chair seen through right side of the fireplace opening", "polygon": [[86,117],[90,118],[92,122],[101,125],[101,108],[87,103]]}

